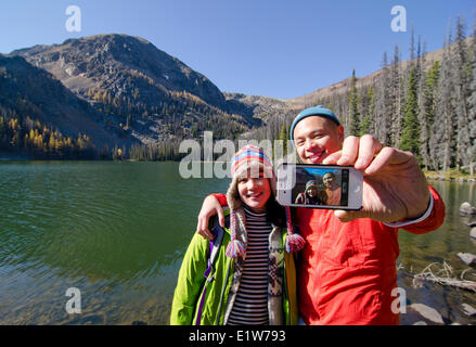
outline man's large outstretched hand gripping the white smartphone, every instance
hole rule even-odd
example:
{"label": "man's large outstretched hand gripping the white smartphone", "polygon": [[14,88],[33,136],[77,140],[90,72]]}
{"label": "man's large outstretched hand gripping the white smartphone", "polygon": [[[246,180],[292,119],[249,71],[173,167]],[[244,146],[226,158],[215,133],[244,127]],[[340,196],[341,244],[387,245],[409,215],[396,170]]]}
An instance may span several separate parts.
{"label": "man's large outstretched hand gripping the white smartphone", "polygon": [[381,222],[415,219],[428,208],[425,175],[410,152],[384,147],[372,136],[348,137],[325,165],[351,165],[363,171],[362,209],[336,210],[343,221],[372,218]]}

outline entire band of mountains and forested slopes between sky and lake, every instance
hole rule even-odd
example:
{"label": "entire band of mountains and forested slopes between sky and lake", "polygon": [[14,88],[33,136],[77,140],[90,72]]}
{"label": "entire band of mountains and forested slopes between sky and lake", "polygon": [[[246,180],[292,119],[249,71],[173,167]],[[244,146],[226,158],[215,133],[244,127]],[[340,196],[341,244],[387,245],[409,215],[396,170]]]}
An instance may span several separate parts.
{"label": "entire band of mountains and forested slopes between sky and lake", "polygon": [[0,59],[0,150],[179,159],[180,142],[202,141],[204,131],[215,140],[286,140],[296,114],[322,104],[346,134],[372,133],[411,151],[429,170],[467,170],[476,162],[476,42],[466,31],[458,18],[442,48],[428,53],[412,33],[409,54],[399,47],[384,52],[375,73],[358,77],[349,67],[349,78],[288,100],[222,93],[149,41],[126,35],[17,50]]}

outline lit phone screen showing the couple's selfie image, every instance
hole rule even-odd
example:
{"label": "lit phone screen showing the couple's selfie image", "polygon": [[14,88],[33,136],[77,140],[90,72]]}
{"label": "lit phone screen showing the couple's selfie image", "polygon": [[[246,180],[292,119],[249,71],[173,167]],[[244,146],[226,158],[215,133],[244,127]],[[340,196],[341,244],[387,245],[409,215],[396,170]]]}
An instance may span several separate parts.
{"label": "lit phone screen showing the couple's selfie image", "polygon": [[296,167],[292,204],[348,205],[349,169]]}

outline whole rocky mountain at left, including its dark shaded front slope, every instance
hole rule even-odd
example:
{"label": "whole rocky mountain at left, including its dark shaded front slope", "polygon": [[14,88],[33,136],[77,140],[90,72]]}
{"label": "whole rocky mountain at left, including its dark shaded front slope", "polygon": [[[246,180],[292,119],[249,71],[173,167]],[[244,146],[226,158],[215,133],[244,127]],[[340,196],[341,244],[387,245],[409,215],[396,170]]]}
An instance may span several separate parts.
{"label": "whole rocky mountain at left, including its dark shaded front slope", "polygon": [[[86,136],[90,157],[142,159],[147,153],[147,159],[179,159],[183,139],[201,139],[206,130],[234,138],[261,124],[247,105],[229,103],[204,75],[128,35],[68,39],[2,55],[0,90],[5,125],[0,150],[34,158],[76,158],[76,150],[51,150],[50,139],[74,149],[68,143]],[[30,124],[37,123],[33,145]],[[51,131],[42,132],[44,127]]]}

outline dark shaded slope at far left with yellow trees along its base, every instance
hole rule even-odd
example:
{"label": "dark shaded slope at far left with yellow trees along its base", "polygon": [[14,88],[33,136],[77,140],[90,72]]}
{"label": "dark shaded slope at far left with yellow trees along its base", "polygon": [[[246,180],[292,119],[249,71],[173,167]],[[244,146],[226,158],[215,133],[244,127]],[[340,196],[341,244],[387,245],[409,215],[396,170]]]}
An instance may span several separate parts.
{"label": "dark shaded slope at far left with yellow trees along its base", "polygon": [[[48,72],[20,56],[0,54],[0,152],[31,158],[110,157],[114,143],[129,146],[123,129]],[[113,144],[113,145],[111,145]]]}

